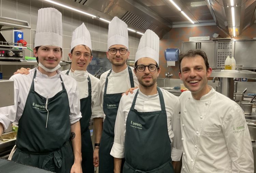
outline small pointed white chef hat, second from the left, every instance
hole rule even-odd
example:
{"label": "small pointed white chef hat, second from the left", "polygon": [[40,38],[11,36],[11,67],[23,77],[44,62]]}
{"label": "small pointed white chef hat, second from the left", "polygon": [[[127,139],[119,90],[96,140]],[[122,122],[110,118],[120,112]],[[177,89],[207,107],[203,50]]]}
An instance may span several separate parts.
{"label": "small pointed white chef hat, second from the left", "polygon": [[91,49],[91,35],[87,30],[84,23],[82,23],[79,27],[73,31],[70,50],[72,50],[77,45],[85,45]]}

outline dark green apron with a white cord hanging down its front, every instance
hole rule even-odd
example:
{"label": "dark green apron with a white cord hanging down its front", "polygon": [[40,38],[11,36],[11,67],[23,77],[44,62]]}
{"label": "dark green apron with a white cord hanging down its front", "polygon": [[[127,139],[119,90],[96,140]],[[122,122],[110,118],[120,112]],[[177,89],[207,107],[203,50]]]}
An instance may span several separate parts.
{"label": "dark green apron with a white cord hanging down its front", "polygon": [[[12,160],[58,173],[69,173],[74,163],[70,138],[68,94],[60,76],[62,90],[48,99],[34,91],[35,69],[22,117],[19,119]],[[46,128],[47,121],[47,128]]]}

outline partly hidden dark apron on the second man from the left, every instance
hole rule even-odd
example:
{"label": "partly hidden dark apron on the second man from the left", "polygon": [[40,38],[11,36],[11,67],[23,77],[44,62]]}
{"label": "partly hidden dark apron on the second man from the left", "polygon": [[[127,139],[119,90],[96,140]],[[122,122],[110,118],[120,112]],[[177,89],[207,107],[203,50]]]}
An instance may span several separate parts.
{"label": "partly hidden dark apron on the second man from the left", "polygon": [[[69,74],[70,69],[67,71]],[[93,166],[93,143],[89,130],[89,122],[91,119],[91,80],[88,76],[88,97],[80,99],[80,111],[82,118],[80,119],[81,140],[82,140],[82,170],[83,173],[94,173]]]}

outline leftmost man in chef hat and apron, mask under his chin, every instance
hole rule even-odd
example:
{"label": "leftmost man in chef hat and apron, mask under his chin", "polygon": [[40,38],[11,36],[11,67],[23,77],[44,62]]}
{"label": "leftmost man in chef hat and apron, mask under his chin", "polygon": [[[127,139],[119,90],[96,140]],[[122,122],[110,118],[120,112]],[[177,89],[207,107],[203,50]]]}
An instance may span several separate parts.
{"label": "leftmost man in chef hat and apron, mask under his chin", "polygon": [[[13,75],[15,103],[0,108],[0,134],[18,123],[12,160],[48,171],[82,172],[80,102],[76,82],[57,70],[62,47],[62,15],[54,8],[38,11],[30,74]],[[72,150],[73,147],[73,150]]]}

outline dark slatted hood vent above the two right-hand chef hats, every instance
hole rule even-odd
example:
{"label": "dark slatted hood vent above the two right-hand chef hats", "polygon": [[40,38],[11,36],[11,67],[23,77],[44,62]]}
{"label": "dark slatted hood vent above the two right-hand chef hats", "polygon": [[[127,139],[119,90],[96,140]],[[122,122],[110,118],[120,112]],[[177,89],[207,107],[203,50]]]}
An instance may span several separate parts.
{"label": "dark slatted hood vent above the two right-hand chef hats", "polygon": [[147,29],[150,29],[154,31],[157,28],[157,25],[141,18],[140,16],[137,16],[136,14],[133,14],[129,11],[125,13],[125,15],[121,18],[124,22],[127,24],[133,25],[134,27],[140,28],[144,31]]}

